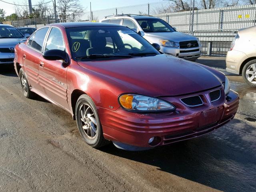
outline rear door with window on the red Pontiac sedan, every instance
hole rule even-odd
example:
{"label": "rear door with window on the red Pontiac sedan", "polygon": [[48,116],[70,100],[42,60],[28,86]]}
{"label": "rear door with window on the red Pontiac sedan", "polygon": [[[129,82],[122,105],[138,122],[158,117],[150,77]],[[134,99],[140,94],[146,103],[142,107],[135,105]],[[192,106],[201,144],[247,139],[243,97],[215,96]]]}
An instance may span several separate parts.
{"label": "rear door with window on the red Pontiac sedan", "polygon": [[22,49],[22,61],[28,82],[30,83],[30,86],[36,90],[41,90],[38,81],[38,58],[42,54],[42,46],[48,29],[49,27],[41,28],[30,36],[27,45]]}

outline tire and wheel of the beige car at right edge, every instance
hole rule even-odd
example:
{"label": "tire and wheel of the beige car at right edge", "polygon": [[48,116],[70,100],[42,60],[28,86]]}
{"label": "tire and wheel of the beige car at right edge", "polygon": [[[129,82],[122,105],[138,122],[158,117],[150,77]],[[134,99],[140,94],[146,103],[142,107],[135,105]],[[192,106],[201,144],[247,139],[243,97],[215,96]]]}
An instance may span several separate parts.
{"label": "tire and wheel of the beige car at right edge", "polygon": [[244,65],[242,76],[248,85],[256,87],[256,60],[251,60]]}

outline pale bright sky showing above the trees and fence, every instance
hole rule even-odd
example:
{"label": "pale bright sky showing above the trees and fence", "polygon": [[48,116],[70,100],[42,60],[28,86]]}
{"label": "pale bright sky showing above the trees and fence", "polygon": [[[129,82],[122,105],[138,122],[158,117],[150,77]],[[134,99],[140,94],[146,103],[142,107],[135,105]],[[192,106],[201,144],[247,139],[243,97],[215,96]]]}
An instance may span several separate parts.
{"label": "pale bright sky showing above the trees and fence", "polygon": [[[15,4],[22,4],[22,2],[24,2],[25,0],[4,0],[4,1],[10,2],[10,3],[15,2]],[[45,0],[45,2],[47,1],[50,1],[50,0]],[[80,0],[80,3],[85,8],[87,8],[86,11],[90,11],[90,2],[91,2],[92,11],[94,11],[94,10],[101,10],[101,9],[108,9],[108,8],[116,8],[120,6],[145,4],[145,3],[157,2],[157,1],[160,1],[160,0]],[[58,0],[56,0],[56,2],[58,2]],[[38,0],[32,0],[32,5],[37,3],[38,3]],[[0,8],[5,10],[6,15],[10,15],[15,12],[13,5],[7,4],[4,2],[0,2]]]}

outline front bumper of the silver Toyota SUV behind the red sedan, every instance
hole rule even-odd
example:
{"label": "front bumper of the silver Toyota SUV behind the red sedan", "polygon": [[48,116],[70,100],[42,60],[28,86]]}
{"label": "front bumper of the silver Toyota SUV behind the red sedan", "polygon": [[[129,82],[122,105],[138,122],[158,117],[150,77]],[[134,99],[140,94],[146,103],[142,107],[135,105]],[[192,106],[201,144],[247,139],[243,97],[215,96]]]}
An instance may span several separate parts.
{"label": "front bumper of the silver Toyota SUV behind the red sedan", "polygon": [[202,55],[200,47],[180,49],[161,46],[160,52],[186,60],[195,60]]}

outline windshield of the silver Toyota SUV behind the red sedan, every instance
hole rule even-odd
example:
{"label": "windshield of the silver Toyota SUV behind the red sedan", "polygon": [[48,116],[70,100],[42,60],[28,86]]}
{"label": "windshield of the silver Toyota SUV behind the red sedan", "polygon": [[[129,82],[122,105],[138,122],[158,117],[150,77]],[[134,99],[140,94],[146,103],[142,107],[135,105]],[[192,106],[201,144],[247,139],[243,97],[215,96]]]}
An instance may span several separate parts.
{"label": "windshield of the silver Toyota SUV behind the red sedan", "polygon": [[136,19],[144,32],[174,32],[174,28],[159,18]]}

